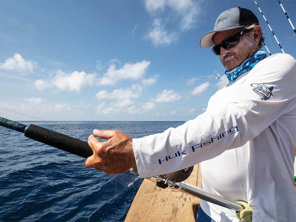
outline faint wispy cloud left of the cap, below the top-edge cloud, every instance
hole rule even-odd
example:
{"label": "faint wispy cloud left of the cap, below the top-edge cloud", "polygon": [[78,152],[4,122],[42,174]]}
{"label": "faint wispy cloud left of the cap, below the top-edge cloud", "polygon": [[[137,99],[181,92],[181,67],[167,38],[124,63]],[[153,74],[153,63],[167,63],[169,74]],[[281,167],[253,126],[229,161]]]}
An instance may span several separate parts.
{"label": "faint wispy cloud left of the cap, below the top-edge cloud", "polygon": [[152,27],[149,30],[147,38],[152,40],[153,45],[169,45],[171,42],[178,39],[176,32],[167,32],[161,19],[154,20]]}

